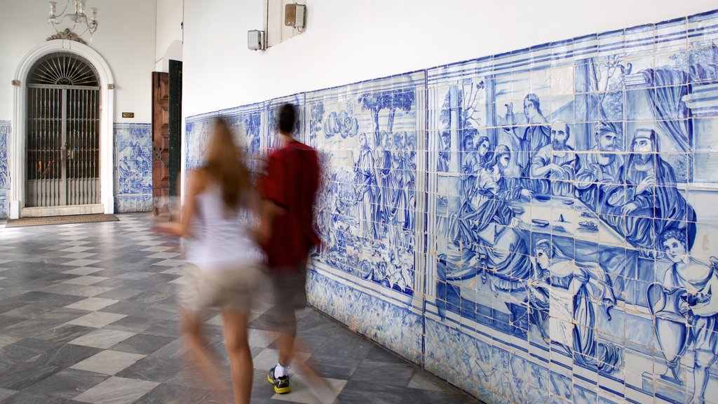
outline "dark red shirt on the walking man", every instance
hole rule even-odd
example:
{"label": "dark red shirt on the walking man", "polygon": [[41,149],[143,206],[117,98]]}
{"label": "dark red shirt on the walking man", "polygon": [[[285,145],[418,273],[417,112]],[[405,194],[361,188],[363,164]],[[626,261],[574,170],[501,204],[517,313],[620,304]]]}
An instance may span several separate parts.
{"label": "dark red shirt on the walking man", "polygon": [[262,198],[284,208],[284,215],[274,217],[264,245],[270,268],[295,267],[319,244],[313,226],[319,180],[317,152],[307,144],[291,139],[269,155],[259,189]]}

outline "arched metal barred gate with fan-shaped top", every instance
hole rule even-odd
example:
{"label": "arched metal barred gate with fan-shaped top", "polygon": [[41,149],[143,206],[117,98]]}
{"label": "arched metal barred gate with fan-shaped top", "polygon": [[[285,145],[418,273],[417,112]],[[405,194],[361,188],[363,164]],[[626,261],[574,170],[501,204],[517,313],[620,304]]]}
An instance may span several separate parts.
{"label": "arched metal barred gate with fan-shaped top", "polygon": [[100,203],[98,75],[87,60],[55,53],[27,84],[25,206]]}

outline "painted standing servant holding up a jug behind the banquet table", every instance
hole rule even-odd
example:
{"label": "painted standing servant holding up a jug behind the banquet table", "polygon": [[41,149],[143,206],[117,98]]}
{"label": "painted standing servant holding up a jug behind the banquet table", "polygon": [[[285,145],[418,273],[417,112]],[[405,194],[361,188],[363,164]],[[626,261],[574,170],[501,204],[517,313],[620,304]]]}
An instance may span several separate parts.
{"label": "painted standing servant holding up a jug behind the banquet table", "polygon": [[[513,113],[513,104],[506,104],[506,122],[513,126],[510,132],[508,144],[514,152],[514,162],[518,175],[528,178],[531,173],[531,160],[533,153],[551,143],[551,128],[546,123],[546,117],[541,112],[541,102],[534,93],[529,93],[523,98],[523,115],[525,122],[519,121]],[[528,127],[517,127],[518,124],[528,124]]]}

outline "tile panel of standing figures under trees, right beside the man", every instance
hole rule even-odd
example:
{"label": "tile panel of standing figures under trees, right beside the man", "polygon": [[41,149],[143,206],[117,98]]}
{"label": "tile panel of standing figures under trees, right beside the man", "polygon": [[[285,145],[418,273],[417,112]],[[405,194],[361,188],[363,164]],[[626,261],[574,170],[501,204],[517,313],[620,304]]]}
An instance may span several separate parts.
{"label": "tile panel of standing figures under trees, right beside the man", "polygon": [[351,283],[404,301],[416,287],[417,111],[423,110],[417,86],[423,84],[423,73],[414,73],[315,91],[304,108],[304,132],[321,151],[323,172],[315,267],[340,270]]}

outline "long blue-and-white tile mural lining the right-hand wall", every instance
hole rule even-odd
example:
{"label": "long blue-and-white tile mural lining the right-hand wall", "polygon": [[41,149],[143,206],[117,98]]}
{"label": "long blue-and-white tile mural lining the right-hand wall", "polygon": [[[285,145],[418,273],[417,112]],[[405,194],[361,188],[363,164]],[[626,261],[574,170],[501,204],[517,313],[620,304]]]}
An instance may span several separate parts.
{"label": "long blue-and-white tile mural lining the right-hand wall", "polygon": [[251,153],[287,100],[314,306],[490,403],[718,403],[718,12],[243,106]]}

